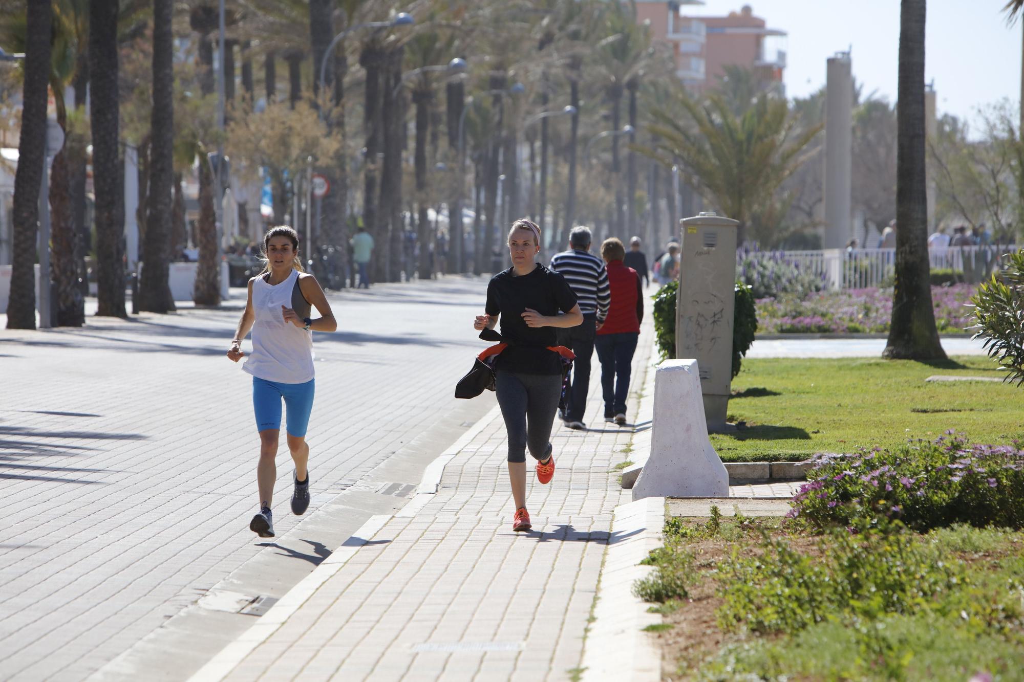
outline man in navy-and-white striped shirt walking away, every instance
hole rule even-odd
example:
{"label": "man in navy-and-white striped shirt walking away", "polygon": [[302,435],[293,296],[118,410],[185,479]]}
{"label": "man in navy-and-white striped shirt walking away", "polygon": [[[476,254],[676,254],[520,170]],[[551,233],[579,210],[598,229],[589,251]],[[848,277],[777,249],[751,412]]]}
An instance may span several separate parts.
{"label": "man in navy-and-white striped shirt walking away", "polygon": [[575,353],[571,385],[559,406],[559,414],[570,429],[586,429],[583,413],[587,407],[587,388],[590,384],[590,358],[594,354],[594,337],[604,324],[611,302],[608,273],[604,261],[589,253],[591,233],[589,227],[573,227],[569,232],[569,250],[555,254],[551,269],[565,278],[577,295],[583,324],[558,330],[558,342]]}

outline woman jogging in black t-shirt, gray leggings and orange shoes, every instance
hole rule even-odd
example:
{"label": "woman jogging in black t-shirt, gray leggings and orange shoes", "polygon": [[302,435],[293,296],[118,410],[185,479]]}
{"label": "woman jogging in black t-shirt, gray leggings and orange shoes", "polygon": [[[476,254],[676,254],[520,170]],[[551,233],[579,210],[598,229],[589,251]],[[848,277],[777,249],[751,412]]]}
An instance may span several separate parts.
{"label": "woman jogging in black t-shirt, gray leggings and orange shoes", "polygon": [[[529,530],[526,511],[526,449],[537,460],[537,480],[555,473],[551,425],[562,389],[556,329],[583,322],[575,294],[558,272],[534,262],[541,252],[541,229],[530,220],[512,223],[508,237],[512,267],[487,284],[487,302],[473,329],[494,329],[509,344],[495,360],[495,392],[508,432],[509,480],[515,502],[513,530]],[[561,312],[562,314],[559,314]]]}

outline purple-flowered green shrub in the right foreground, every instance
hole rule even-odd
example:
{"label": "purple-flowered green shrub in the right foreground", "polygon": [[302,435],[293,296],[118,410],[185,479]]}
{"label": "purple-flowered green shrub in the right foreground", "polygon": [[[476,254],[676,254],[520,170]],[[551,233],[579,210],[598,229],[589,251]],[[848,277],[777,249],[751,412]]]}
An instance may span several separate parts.
{"label": "purple-flowered green shrub in the right foreground", "polygon": [[934,442],[814,460],[791,518],[817,527],[899,519],[915,530],[953,523],[1024,527],[1024,449],[969,444],[947,431]]}

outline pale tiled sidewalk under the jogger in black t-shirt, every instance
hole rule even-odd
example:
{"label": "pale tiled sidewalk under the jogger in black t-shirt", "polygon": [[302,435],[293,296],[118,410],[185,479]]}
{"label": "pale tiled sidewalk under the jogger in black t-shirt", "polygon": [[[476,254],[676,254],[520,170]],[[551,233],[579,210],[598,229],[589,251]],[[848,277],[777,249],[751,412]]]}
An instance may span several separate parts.
{"label": "pale tiled sidewalk under the jogger in black t-shirt", "polygon": [[[652,336],[648,323],[635,386]],[[224,679],[569,679],[612,511],[630,500],[612,467],[626,459],[633,429],[600,421],[599,373],[595,357],[593,429],[556,420],[554,480],[541,485],[529,469],[534,530],[511,530],[505,426],[495,410],[444,467],[436,495],[418,496],[427,502],[414,501],[356,541],[367,542]],[[200,679],[220,678],[215,664]]]}

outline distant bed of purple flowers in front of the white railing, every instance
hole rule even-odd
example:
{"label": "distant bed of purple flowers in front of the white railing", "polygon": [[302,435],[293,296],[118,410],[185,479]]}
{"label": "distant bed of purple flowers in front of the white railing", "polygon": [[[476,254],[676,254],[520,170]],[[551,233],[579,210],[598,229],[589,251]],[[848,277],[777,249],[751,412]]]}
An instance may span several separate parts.
{"label": "distant bed of purple flowers in front of the white railing", "polygon": [[[932,287],[935,324],[942,333],[963,333],[972,324],[968,307],[976,285]],[[892,289],[849,289],[757,301],[762,334],[887,333],[892,321]]]}

